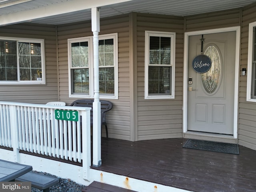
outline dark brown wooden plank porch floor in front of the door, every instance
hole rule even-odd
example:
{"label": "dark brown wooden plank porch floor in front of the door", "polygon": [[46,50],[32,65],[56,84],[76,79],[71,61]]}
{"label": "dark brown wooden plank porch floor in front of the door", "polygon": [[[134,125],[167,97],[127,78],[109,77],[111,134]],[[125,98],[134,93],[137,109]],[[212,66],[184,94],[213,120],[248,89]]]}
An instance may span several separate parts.
{"label": "dark brown wooden plank porch floor in front of the door", "polygon": [[129,142],[102,138],[96,168],[194,192],[255,192],[256,151],[239,155],[182,148],[186,139]]}

